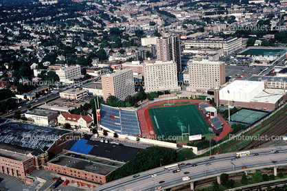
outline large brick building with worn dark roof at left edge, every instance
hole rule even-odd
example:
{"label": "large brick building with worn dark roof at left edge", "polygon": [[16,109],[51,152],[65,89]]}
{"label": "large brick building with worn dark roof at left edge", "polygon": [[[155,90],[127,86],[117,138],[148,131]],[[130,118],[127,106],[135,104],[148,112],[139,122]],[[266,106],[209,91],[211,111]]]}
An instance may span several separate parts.
{"label": "large brick building with worn dark roof at left edge", "polygon": [[22,179],[62,152],[69,139],[82,137],[81,133],[14,122],[1,124],[0,131],[0,172]]}

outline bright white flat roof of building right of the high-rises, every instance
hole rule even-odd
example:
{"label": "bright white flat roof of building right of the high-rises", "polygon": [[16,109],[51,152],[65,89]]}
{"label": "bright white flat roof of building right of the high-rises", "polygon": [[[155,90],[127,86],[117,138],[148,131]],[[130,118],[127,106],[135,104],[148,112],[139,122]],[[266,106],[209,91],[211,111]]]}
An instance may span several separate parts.
{"label": "bright white flat roof of building right of the high-rises", "polygon": [[230,85],[222,88],[220,91],[231,91],[240,93],[251,93],[254,89],[260,85],[264,85],[264,82],[235,80]]}

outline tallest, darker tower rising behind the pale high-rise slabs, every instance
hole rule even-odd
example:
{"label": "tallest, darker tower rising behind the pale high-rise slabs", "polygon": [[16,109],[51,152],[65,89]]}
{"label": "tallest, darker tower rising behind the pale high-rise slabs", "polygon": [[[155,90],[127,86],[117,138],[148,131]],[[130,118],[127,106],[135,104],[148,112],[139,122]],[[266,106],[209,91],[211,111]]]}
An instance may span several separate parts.
{"label": "tallest, darker tower rising behind the pale high-rise slabs", "polygon": [[181,73],[181,52],[179,35],[157,39],[157,60],[174,61],[177,73]]}

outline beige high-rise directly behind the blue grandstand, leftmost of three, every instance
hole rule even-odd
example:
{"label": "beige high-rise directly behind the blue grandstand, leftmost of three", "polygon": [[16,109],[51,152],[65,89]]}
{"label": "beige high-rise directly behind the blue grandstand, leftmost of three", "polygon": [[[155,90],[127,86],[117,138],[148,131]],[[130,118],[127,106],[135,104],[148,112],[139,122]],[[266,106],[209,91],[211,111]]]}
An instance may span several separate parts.
{"label": "beige high-rise directly behind the blue grandstand, leftmost of three", "polygon": [[114,95],[117,100],[126,98],[126,95],[135,93],[135,83],[132,69],[116,69],[111,74],[102,76],[104,100]]}

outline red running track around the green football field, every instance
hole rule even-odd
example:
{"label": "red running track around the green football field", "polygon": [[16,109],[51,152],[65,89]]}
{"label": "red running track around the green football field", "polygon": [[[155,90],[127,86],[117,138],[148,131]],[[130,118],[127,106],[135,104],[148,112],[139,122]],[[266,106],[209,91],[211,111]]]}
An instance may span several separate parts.
{"label": "red running track around the green football field", "polygon": [[[198,106],[198,104],[201,101],[196,101],[196,100],[176,100],[176,102],[192,102],[192,103],[196,104],[196,106]],[[167,104],[167,103],[168,103],[168,100],[161,101],[161,102],[155,102],[155,103],[149,104],[148,106],[145,106],[142,109],[140,109],[139,111],[137,111],[137,116],[139,117],[139,124],[140,124],[140,127],[141,127],[141,135],[143,137],[146,137],[148,139],[152,139],[152,138],[155,139],[156,138],[156,135],[154,133],[154,128],[152,126],[152,120],[150,120],[150,113],[148,113],[148,108],[150,108],[152,106],[159,105],[159,104]],[[175,104],[175,105],[179,105],[179,104]],[[203,114],[203,111],[201,109],[199,109],[199,111]],[[205,117],[205,115],[203,115],[203,116]],[[223,131],[222,131],[222,133],[220,133],[220,135],[218,135],[217,137],[214,137],[214,140],[220,140],[220,139],[226,137],[227,134],[232,131],[230,126],[227,124],[227,122],[225,122],[225,120],[223,120],[220,115],[218,115],[218,117],[220,117],[220,120],[224,123]],[[209,122],[207,117],[205,117],[205,120],[207,121],[207,123],[210,126],[211,123]]]}

